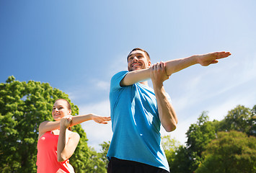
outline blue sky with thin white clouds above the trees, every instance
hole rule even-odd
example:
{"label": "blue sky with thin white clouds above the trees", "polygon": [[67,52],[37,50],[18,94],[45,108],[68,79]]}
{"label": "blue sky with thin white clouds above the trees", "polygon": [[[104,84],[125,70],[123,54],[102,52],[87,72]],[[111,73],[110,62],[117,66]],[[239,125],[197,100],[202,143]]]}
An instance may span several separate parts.
{"label": "blue sky with thin white clouds above the trees", "polygon": [[[226,50],[219,63],[173,74],[164,87],[185,133],[203,111],[222,120],[256,105],[256,1],[0,0],[0,82],[48,82],[69,94],[80,114],[110,115],[110,79],[144,48],[152,63]],[[89,146],[110,141],[111,123],[82,123]]]}

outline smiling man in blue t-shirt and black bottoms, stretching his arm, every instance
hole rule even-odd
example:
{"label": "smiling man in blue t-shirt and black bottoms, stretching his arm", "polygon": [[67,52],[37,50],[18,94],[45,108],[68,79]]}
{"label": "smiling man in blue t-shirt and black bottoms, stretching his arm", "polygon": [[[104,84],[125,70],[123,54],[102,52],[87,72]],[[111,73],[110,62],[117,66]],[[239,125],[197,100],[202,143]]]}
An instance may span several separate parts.
{"label": "smiling man in blue t-shirt and black bottoms, stretching his arm", "polygon": [[[161,146],[160,126],[175,130],[177,116],[164,91],[163,82],[177,71],[200,63],[208,66],[229,52],[190,56],[151,66],[149,54],[135,48],[128,55],[128,71],[120,71],[111,79],[110,111],[112,141],[107,153],[107,172],[169,172]],[[146,80],[151,79],[153,88]]]}

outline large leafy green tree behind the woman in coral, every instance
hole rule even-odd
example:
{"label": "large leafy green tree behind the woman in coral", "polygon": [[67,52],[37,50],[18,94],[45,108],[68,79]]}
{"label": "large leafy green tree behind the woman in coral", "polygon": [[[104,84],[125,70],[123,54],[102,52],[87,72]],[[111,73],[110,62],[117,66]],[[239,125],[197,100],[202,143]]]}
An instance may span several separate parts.
{"label": "large leafy green tree behind the woman in coral", "polygon": [[[0,84],[0,169],[2,172],[36,172],[37,136],[40,123],[53,120],[51,110],[56,99],[69,96],[48,83],[15,81],[9,76]],[[71,103],[72,115],[79,109]],[[76,172],[87,172],[94,153],[87,146],[81,125],[72,127],[80,141],[70,162]],[[93,172],[93,171],[92,171]]]}

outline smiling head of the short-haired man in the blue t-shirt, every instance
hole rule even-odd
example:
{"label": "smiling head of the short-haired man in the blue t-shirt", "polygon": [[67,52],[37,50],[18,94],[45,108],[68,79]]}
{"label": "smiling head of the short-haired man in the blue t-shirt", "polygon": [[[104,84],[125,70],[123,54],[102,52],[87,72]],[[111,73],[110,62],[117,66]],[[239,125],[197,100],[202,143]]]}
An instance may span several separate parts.
{"label": "smiling head of the short-haired man in the blue t-shirt", "polygon": [[151,62],[146,58],[146,54],[141,50],[134,50],[128,56],[128,71],[146,69],[151,66]]}

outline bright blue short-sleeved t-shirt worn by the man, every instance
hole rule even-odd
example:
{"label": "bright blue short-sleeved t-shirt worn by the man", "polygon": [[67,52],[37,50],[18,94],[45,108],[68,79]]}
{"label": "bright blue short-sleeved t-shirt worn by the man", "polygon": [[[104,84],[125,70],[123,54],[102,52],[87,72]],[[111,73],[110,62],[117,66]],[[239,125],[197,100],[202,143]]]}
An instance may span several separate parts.
{"label": "bright blue short-sleeved t-shirt worn by the man", "polygon": [[159,114],[154,90],[144,84],[120,86],[128,71],[111,79],[112,141],[107,157],[138,161],[169,171],[161,145]]}

